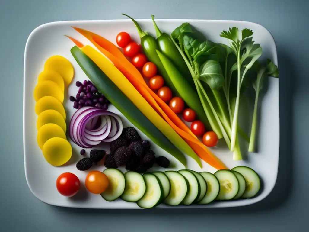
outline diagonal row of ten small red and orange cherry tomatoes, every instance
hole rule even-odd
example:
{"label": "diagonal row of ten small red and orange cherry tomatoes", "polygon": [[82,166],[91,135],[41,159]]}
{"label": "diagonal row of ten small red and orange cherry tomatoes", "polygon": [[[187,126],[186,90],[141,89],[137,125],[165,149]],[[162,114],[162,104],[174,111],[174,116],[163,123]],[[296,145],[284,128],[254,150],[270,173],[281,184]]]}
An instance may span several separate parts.
{"label": "diagonal row of ten small red and orange cherry tomatoes", "polygon": [[204,124],[195,120],[196,113],[194,110],[185,108],[184,100],[181,97],[173,97],[172,91],[167,86],[164,86],[164,79],[162,76],[157,75],[157,67],[154,63],[148,62],[144,54],[140,53],[141,46],[132,41],[127,32],[120,32],[116,37],[116,43],[119,47],[123,48],[125,56],[131,58],[132,64],[141,69],[144,77],[149,79],[149,88],[157,91],[158,96],[164,101],[169,102],[169,107],[176,114],[182,113],[186,122],[191,123],[191,131],[196,136],[202,136],[202,142],[207,147],[216,146],[218,143],[218,136],[213,131],[205,133]]}

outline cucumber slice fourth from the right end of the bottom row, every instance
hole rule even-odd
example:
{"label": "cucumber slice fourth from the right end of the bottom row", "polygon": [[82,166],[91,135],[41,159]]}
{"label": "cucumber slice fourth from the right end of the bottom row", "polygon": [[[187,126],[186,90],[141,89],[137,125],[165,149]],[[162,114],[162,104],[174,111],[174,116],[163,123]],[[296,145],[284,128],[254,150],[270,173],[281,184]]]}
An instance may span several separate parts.
{"label": "cucumber slice fourth from the right end of the bottom row", "polygon": [[210,172],[201,172],[201,176],[205,179],[207,184],[207,191],[202,200],[200,200],[197,204],[209,204],[219,194],[220,185],[217,177]]}

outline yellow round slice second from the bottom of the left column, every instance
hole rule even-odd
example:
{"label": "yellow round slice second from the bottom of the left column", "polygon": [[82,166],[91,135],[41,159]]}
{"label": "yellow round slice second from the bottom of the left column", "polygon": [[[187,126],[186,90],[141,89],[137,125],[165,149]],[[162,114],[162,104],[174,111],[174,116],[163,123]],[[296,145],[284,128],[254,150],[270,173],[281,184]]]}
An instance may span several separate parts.
{"label": "yellow round slice second from the bottom of the left column", "polygon": [[44,143],[53,137],[59,137],[66,140],[66,134],[60,126],[54,123],[47,123],[38,130],[36,140],[39,147],[42,149]]}

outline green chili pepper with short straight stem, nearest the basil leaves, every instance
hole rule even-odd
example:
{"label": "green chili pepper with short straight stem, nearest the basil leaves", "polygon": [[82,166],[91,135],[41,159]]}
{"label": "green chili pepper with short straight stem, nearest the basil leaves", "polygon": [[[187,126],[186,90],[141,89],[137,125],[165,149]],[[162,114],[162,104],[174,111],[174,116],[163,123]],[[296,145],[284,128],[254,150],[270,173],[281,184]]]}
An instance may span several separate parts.
{"label": "green chili pepper with short straight stem, nearest the basil leaves", "polygon": [[188,69],[184,58],[182,58],[180,52],[176,48],[175,44],[171,40],[171,36],[167,33],[162,33],[155,22],[155,16],[151,15],[151,19],[155,26],[155,31],[157,34],[157,42],[160,48],[160,51],[166,55],[177,67],[180,73],[187,79],[191,87],[196,91],[195,84],[192,78],[192,75]]}

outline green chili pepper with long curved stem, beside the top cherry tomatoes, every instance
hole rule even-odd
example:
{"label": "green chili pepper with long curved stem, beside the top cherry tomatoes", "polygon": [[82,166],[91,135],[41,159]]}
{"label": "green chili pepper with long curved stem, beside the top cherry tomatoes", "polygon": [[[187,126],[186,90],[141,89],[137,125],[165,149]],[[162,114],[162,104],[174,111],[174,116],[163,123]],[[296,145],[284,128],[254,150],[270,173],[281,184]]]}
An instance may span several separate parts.
{"label": "green chili pepper with long curved stem, beside the top cherry tomatoes", "polygon": [[[122,14],[125,15],[125,14]],[[155,37],[147,34],[142,30],[138,22],[131,18],[129,15],[125,15],[132,19],[133,23],[135,24],[139,37],[141,38],[141,45],[142,48],[145,52],[146,57],[148,58],[149,61],[153,62],[156,66],[157,69],[159,70],[160,74],[162,75],[163,79],[165,80],[166,86],[171,88],[172,92],[176,95],[179,96],[179,93],[177,92],[176,88],[174,87],[173,83],[171,82],[171,79],[167,75],[167,72],[162,64],[162,62],[159,59],[159,56],[156,52],[156,49],[159,49],[159,45],[155,39]]]}

